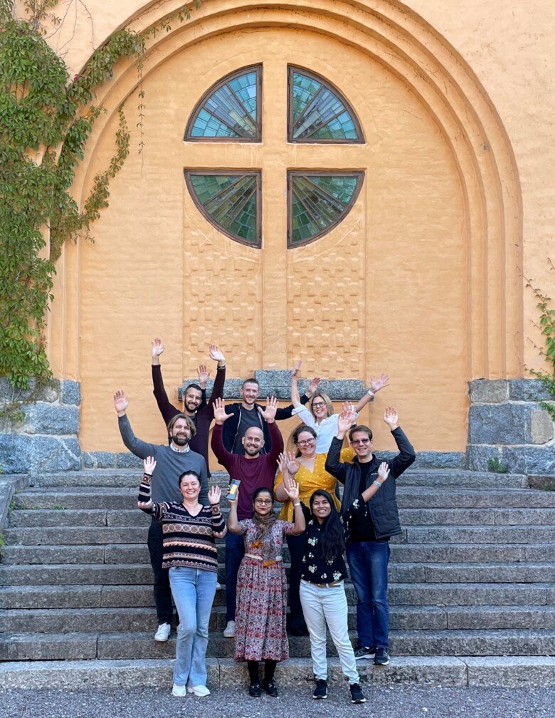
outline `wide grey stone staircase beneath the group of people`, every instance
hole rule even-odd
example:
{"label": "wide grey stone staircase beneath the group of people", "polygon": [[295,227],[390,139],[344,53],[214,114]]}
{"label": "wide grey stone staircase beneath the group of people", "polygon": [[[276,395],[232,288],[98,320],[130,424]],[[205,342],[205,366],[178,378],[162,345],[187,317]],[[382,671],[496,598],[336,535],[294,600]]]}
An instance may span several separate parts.
{"label": "wide grey stone staircase beneath the group of people", "polygon": [[[171,681],[174,634],[153,640],[140,478],[139,470],[64,472],[14,494],[0,564],[4,686],[132,685],[141,669],[151,684]],[[214,481],[223,488],[227,475]],[[413,468],[398,500],[392,663],[364,661],[364,680],[555,685],[555,492],[529,489],[523,476]],[[221,685],[245,672],[222,634],[223,550],[208,652],[209,680]],[[346,591],[354,630],[351,584]],[[290,673],[280,667],[281,680],[310,680],[308,638],[290,637],[290,654],[299,660],[288,661]]]}

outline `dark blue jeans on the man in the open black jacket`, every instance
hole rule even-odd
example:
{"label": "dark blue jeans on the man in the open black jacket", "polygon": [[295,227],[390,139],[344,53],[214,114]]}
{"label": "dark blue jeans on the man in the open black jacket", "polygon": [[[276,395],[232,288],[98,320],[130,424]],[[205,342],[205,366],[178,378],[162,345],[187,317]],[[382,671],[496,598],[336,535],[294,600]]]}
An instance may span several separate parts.
{"label": "dark blue jeans on the man in the open black jacket", "polygon": [[355,587],[356,628],[359,646],[388,648],[389,605],[387,564],[389,541],[361,541],[347,544],[347,561]]}

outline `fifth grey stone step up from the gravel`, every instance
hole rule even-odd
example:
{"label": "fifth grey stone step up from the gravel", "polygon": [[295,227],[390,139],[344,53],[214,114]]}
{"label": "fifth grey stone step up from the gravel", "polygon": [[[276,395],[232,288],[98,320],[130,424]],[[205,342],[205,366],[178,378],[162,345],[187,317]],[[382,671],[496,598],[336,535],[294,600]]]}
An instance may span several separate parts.
{"label": "fifth grey stone step up from the gravel", "polygon": [[[289,577],[290,566],[285,564]],[[225,581],[225,569],[218,568],[218,579]],[[148,564],[32,564],[0,566],[0,584],[76,585],[147,584],[152,580]],[[555,562],[528,563],[401,563],[390,564],[392,583],[538,583],[555,582]]]}

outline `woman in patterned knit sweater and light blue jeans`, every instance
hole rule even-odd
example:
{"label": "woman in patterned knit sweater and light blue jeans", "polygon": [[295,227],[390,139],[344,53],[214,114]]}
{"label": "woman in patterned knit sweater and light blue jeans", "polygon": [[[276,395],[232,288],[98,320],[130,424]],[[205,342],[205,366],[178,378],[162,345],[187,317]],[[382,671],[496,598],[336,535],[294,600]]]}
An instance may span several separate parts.
{"label": "woman in patterned knit sweater and light blue jeans", "polygon": [[227,528],[219,510],[220,490],[208,493],[210,505],[199,503],[200,477],[186,471],[179,477],[183,503],[151,501],[151,477],[156,467],[152,457],[144,462],[145,473],[139,488],[138,508],[161,521],[164,569],[169,569],[171,594],[179,613],[174,696],[209,696],[206,655],[208,622],[216,593],[218,554],[214,538],[225,536]]}

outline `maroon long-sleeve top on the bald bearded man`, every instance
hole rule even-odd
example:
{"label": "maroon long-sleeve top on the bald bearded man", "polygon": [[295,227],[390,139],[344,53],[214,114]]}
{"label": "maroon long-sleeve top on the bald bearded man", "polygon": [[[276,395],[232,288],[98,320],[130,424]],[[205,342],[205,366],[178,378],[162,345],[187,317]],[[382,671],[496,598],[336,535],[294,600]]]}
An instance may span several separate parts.
{"label": "maroon long-sleeve top on the bald bearded man", "polygon": [[231,454],[224,447],[222,441],[222,424],[216,424],[212,429],[212,451],[217,460],[227,469],[229,477],[239,479],[239,502],[237,503],[237,518],[252,518],[252,495],[257,488],[274,487],[275,472],[278,468],[278,456],[283,452],[283,437],[275,421],[268,424],[272,437],[272,449],[269,454],[260,454],[255,459],[247,459],[239,454]]}

